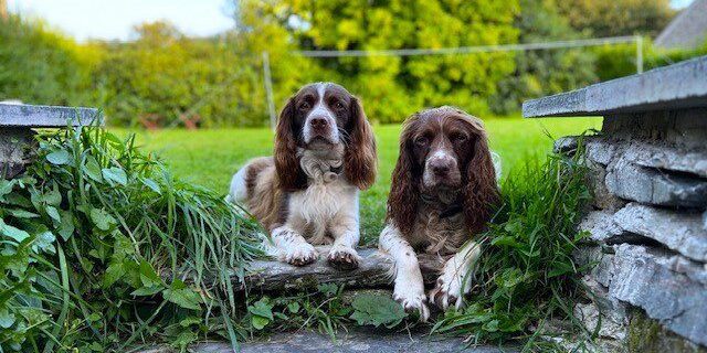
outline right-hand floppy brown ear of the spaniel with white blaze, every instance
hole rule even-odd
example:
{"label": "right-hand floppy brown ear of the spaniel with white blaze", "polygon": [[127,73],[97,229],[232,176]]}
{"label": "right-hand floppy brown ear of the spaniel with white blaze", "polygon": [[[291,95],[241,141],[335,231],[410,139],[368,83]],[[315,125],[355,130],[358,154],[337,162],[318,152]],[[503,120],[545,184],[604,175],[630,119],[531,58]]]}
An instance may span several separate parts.
{"label": "right-hand floppy brown ear of the spaniel with white blaze", "polygon": [[370,188],[376,181],[377,156],[376,137],[363,107],[356,97],[351,97],[351,117],[349,119],[349,145],[346,147],[344,172],[346,178],[360,190]]}

